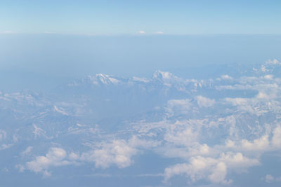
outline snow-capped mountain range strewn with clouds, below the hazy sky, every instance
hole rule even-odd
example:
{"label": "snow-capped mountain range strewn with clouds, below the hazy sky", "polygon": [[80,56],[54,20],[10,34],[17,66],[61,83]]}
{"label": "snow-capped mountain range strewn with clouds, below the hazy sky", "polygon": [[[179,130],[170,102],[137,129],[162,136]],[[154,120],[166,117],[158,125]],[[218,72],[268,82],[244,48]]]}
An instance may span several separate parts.
{"label": "snow-capped mountain range strewn with clouds, below the hazy sky", "polygon": [[155,71],[87,76],[51,93],[2,90],[3,183],[66,176],[69,186],[77,186],[73,177],[119,186],[133,176],[142,177],[133,186],[241,186],[241,173],[278,177],[266,166],[281,165],[280,69],[271,60],[202,80]]}

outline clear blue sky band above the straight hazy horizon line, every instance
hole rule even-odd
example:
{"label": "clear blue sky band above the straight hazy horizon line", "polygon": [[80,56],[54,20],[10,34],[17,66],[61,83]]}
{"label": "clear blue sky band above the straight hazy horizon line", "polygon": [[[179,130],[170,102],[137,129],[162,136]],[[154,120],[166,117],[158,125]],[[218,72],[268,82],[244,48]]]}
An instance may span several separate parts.
{"label": "clear blue sky band above the straight hazy horizon line", "polygon": [[281,1],[6,1],[0,32],[281,34]]}

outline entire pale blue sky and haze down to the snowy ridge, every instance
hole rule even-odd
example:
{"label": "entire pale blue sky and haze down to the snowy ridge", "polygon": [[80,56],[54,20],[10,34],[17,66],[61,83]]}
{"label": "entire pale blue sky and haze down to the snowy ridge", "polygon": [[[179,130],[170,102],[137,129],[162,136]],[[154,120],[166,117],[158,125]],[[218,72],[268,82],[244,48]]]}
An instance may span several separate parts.
{"label": "entire pale blue sky and haze down to the snowy ridge", "polygon": [[[2,89],[280,60],[281,1],[0,1]],[[20,78],[18,78],[20,77]],[[30,87],[29,85],[32,85]]]}

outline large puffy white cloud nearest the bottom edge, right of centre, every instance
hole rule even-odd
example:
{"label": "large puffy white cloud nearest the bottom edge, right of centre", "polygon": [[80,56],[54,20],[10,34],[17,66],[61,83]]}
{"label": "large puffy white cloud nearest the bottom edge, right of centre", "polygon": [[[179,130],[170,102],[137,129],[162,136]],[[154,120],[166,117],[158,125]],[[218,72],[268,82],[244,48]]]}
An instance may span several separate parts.
{"label": "large puffy white cloud nearest the bottom edge, right of centre", "polygon": [[209,179],[211,183],[228,184],[232,182],[226,179],[228,169],[244,169],[254,165],[259,165],[259,161],[244,157],[242,153],[221,153],[218,158],[195,156],[189,159],[189,163],[167,167],[164,170],[164,181],[183,175],[192,182]]}

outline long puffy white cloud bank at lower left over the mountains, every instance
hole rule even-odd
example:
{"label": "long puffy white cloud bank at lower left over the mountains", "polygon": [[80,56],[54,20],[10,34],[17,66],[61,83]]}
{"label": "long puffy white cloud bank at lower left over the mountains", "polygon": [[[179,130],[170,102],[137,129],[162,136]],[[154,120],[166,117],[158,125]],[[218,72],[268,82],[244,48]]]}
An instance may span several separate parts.
{"label": "long puffy white cloud bank at lower left over the mountains", "polygon": [[[44,176],[51,176],[51,172],[49,172],[51,167],[79,164],[79,162],[95,162],[96,167],[103,169],[112,165],[117,165],[119,168],[129,167],[133,163],[131,157],[137,153],[137,147],[152,148],[158,146],[159,143],[133,136],[128,141],[119,139],[109,143],[103,142],[91,151],[84,153],[67,154],[63,148],[53,147],[46,155],[37,156],[34,160],[26,162],[25,165],[17,165],[16,167],[20,172],[29,169]],[[29,146],[22,152],[22,155],[28,155],[31,151],[32,147]]]}

